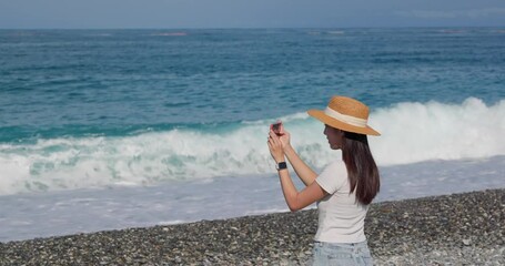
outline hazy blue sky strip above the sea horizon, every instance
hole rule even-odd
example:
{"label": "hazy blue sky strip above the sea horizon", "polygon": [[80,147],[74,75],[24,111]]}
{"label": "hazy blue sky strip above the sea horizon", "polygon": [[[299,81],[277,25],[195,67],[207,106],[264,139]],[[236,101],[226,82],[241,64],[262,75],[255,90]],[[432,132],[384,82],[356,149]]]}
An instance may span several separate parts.
{"label": "hazy blue sky strip above the sea horizon", "polygon": [[0,29],[505,27],[505,0],[0,0]]}

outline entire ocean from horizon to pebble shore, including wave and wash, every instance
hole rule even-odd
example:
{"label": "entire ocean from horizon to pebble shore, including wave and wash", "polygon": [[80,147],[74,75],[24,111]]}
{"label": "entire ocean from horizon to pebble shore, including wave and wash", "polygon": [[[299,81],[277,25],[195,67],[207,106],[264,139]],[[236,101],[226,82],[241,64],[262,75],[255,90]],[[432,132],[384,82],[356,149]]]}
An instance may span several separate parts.
{"label": "entire ocean from horizon to pebble shore, including wave and wash", "polygon": [[0,30],[0,242],[286,212],[269,125],[321,170],[332,95],[376,201],[505,187],[505,28]]}

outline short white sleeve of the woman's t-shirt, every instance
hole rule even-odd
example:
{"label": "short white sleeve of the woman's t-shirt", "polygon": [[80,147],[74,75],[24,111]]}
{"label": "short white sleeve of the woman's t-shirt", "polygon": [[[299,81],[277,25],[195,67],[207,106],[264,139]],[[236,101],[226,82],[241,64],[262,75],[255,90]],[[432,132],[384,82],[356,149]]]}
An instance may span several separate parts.
{"label": "short white sleeve of the woman's t-shirt", "polygon": [[343,161],[329,164],[323,172],[315,178],[315,182],[326,193],[333,194],[342,188],[347,180],[347,170]]}

